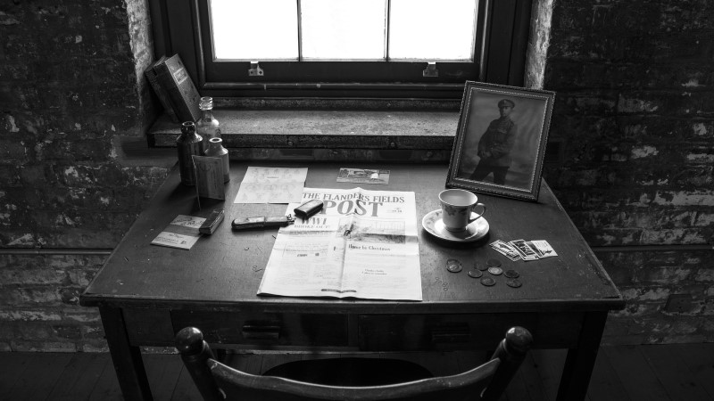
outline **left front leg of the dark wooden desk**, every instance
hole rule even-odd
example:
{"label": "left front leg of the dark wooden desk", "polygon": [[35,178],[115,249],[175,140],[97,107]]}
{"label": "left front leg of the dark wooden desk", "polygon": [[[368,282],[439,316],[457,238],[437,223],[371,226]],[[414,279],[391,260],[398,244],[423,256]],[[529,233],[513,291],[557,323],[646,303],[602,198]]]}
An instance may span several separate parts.
{"label": "left front leg of the dark wooden desk", "polygon": [[100,307],[104,325],[104,335],[112,354],[114,371],[117,372],[119,387],[124,399],[151,401],[151,389],[146,378],[141,350],[129,344],[127,327],[121,309],[116,307]]}

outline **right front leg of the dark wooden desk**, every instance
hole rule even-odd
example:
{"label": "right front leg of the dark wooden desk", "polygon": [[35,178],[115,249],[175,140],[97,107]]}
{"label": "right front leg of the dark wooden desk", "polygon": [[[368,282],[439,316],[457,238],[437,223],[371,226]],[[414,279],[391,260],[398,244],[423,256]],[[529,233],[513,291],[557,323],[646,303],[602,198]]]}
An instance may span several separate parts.
{"label": "right front leg of the dark wooden desk", "polygon": [[585,399],[607,318],[607,312],[585,313],[577,348],[569,349],[565,359],[558,388],[559,401]]}

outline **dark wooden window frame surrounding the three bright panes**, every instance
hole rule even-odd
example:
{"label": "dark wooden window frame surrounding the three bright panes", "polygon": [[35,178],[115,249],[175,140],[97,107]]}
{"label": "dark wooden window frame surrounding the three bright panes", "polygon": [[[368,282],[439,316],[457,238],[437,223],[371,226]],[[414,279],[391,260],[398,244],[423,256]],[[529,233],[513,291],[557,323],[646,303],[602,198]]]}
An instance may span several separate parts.
{"label": "dark wooden window frame surrounding the three bright panes", "polygon": [[[211,37],[206,34],[208,0],[149,0],[149,5],[154,55],[158,58],[179,53],[202,95],[454,100],[461,99],[466,80],[523,85],[532,0],[480,0],[477,29],[481,31],[481,37],[474,49],[475,62],[469,63],[471,68],[464,70],[464,63],[436,61],[441,76],[436,79],[421,77],[426,62],[408,61],[302,61],[308,64],[307,67],[298,65],[299,61],[261,61],[261,68],[268,71],[266,76],[248,77],[249,61],[212,61]],[[340,78],[345,71],[365,70],[367,66],[371,69],[375,62],[391,64],[386,67],[392,69],[387,76],[392,74],[394,81],[378,79],[369,73],[363,74],[361,82]],[[341,64],[339,68],[335,63]],[[304,70],[316,66],[317,72],[306,73]],[[270,78],[270,71],[276,69],[288,70],[289,79]],[[395,74],[417,78],[404,82]],[[227,77],[237,80],[231,81]]]}

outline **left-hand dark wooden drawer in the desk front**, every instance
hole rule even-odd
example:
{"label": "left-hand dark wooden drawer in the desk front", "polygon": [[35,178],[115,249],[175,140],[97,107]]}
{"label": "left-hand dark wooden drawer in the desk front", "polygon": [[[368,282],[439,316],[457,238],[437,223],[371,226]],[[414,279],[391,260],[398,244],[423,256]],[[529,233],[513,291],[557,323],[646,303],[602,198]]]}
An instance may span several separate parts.
{"label": "left-hand dark wooden drawer in the desk front", "polygon": [[172,311],[174,331],[195,326],[211,343],[345,347],[346,315]]}

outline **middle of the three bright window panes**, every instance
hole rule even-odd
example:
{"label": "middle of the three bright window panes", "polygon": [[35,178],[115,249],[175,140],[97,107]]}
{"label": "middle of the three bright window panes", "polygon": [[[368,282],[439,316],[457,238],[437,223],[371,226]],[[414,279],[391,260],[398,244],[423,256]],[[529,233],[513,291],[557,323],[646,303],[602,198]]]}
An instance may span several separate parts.
{"label": "middle of the three bright window panes", "polygon": [[303,58],[385,58],[385,0],[303,0],[301,4]]}

